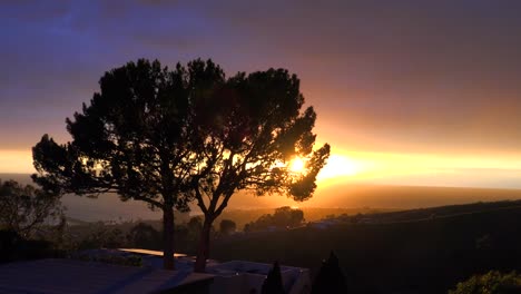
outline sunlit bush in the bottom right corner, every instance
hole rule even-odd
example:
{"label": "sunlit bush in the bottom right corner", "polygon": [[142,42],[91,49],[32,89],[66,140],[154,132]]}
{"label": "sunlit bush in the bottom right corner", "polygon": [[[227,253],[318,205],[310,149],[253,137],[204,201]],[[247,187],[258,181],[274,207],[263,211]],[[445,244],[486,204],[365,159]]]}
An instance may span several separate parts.
{"label": "sunlit bush in the bottom right corner", "polygon": [[490,271],[484,275],[474,275],[469,280],[458,283],[455,290],[449,294],[508,294],[521,292],[521,275],[511,272],[502,274]]}

